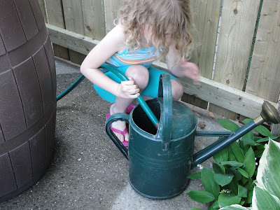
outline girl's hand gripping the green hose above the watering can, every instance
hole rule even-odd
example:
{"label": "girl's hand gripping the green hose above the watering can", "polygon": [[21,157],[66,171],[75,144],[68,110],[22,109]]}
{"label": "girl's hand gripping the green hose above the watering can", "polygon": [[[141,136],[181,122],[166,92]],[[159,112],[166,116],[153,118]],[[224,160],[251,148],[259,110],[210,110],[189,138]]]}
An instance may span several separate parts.
{"label": "girl's hand gripping the green hose above the watering can", "polygon": [[140,89],[136,85],[133,78],[129,78],[130,80],[122,81],[118,86],[117,97],[123,97],[127,99],[136,99],[140,95]]}

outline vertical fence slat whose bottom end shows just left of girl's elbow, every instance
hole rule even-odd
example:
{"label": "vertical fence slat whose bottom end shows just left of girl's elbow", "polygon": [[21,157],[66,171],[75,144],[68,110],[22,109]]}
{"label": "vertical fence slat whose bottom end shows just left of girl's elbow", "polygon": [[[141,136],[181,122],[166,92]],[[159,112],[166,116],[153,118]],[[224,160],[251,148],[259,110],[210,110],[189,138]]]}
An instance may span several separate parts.
{"label": "vertical fence slat whose bottom end shows just left of girl's elbow", "polygon": [[[62,0],[62,4],[65,28],[77,34],[85,35],[82,0]],[[81,64],[85,59],[85,55],[73,50],[69,50],[69,56],[70,61],[76,64]]]}

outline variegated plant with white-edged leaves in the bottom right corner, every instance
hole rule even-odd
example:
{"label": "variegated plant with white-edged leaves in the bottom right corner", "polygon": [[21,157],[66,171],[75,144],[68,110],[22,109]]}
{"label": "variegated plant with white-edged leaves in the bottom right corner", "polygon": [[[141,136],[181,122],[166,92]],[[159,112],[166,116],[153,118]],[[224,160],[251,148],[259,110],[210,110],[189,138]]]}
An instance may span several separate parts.
{"label": "variegated plant with white-edged leaves in the bottom right corner", "polygon": [[280,144],[269,140],[258,167],[258,175],[253,190],[252,208],[232,205],[221,210],[235,209],[280,209]]}

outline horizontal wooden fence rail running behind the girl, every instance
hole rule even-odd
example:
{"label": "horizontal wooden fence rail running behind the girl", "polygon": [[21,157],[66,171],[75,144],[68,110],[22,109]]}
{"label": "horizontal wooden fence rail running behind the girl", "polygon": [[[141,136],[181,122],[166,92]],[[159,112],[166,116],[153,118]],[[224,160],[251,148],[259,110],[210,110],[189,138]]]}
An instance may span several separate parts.
{"label": "horizontal wooden fence rail running behind the girl", "polygon": [[[61,29],[52,25],[48,25],[48,32],[50,34],[50,41],[57,43],[71,50],[87,55],[90,50],[99,43],[87,36],[76,34],[72,31]],[[153,64],[158,69],[167,71],[167,64],[163,62],[154,62]],[[217,106],[221,106],[240,113],[248,118],[255,118],[261,111],[262,102],[264,99],[261,97],[248,94],[228,85],[218,83],[214,80],[201,77],[201,85],[193,85],[190,79],[181,80],[184,87],[184,92],[194,95]],[[278,105],[271,102],[274,107]]]}

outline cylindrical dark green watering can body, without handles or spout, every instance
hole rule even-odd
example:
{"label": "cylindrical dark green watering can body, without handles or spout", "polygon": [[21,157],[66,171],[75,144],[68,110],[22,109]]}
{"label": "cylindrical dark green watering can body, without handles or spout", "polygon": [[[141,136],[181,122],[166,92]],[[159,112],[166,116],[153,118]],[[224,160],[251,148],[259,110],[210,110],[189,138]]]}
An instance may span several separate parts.
{"label": "cylindrical dark green watering can body, without handles or spout", "polygon": [[[160,116],[162,98],[152,99],[147,102],[155,116]],[[173,113],[179,114],[186,109],[183,103],[173,102]],[[188,110],[190,111],[190,110]],[[186,110],[184,111],[186,112]],[[191,111],[190,111],[190,114]],[[184,116],[184,114],[179,115]],[[165,200],[185,190],[188,184],[188,174],[193,158],[195,130],[197,119],[193,120],[190,130],[180,130],[181,125],[165,127],[160,121],[157,130],[148,120],[141,106],[136,107],[130,115],[130,148],[129,148],[129,181],[139,194],[153,200]],[[173,118],[174,119],[174,118]],[[162,142],[162,131],[172,132],[171,141]],[[176,132],[175,132],[176,131]],[[181,135],[176,135],[181,134]],[[177,137],[176,137],[177,136]]]}

